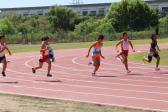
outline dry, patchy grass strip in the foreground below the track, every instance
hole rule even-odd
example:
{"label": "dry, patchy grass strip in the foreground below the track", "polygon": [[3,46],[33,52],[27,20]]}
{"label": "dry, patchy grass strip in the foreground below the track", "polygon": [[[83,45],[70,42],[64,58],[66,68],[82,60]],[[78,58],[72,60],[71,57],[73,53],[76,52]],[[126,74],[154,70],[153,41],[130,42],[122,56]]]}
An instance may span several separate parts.
{"label": "dry, patchy grass strip in the foreground below the track", "polygon": [[0,112],[152,112],[106,105],[0,94]]}

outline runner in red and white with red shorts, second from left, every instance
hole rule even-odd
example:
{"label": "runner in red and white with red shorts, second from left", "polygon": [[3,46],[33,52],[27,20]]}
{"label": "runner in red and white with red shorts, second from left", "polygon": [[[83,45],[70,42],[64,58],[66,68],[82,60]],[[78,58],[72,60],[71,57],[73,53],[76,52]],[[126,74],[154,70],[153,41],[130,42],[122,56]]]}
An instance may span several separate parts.
{"label": "runner in red and white with red shorts, second from left", "polygon": [[41,45],[41,55],[40,55],[40,59],[39,59],[39,66],[32,68],[32,72],[36,73],[37,69],[42,68],[43,63],[46,62],[48,63],[48,73],[47,73],[47,77],[52,77],[52,75],[50,74],[50,70],[51,70],[51,61],[49,58],[49,51],[50,51],[50,46],[48,45],[49,43],[49,37],[45,36],[42,38],[42,40],[44,41],[44,43]]}

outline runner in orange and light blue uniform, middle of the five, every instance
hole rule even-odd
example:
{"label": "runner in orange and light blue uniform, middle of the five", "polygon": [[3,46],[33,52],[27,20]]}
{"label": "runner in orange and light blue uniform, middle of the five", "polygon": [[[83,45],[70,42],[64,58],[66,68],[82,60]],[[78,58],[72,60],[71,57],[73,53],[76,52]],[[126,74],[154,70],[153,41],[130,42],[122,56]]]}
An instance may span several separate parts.
{"label": "runner in orange and light blue uniform, middle of the five", "polygon": [[100,66],[100,56],[104,58],[104,56],[102,56],[101,54],[101,47],[103,46],[103,43],[102,43],[103,39],[104,39],[104,36],[99,35],[98,41],[96,41],[92,46],[90,46],[88,55],[86,55],[86,58],[89,57],[90,50],[93,47],[92,61],[89,62],[89,65],[93,63],[93,66],[95,67],[92,73],[92,76],[97,76],[96,71],[99,69],[99,66]]}

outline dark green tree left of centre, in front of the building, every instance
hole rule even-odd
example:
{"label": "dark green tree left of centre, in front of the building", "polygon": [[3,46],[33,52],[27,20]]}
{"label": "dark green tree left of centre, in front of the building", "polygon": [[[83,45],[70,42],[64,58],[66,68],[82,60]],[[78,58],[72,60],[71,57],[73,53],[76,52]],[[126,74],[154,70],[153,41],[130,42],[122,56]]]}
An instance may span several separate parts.
{"label": "dark green tree left of centre, in front of the building", "polygon": [[55,5],[50,7],[50,11],[47,13],[47,16],[53,28],[70,30],[75,26],[74,22],[78,13],[73,12],[71,8]]}

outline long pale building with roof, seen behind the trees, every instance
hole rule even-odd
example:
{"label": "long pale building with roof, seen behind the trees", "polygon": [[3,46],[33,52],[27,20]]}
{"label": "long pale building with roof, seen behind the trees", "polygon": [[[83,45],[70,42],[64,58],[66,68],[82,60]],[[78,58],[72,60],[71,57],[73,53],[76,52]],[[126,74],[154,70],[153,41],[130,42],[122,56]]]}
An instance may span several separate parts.
{"label": "long pale building with roof, seen behind the trees", "polygon": [[[159,10],[168,11],[168,0],[154,0],[146,1],[149,5],[159,8]],[[99,13],[103,12],[107,14],[111,3],[101,3],[101,4],[79,4],[79,5],[66,5],[66,7],[72,8],[73,11],[78,12],[82,15],[87,15],[88,13]],[[7,12],[18,13],[21,16],[38,14],[45,15],[50,9],[50,6],[43,7],[21,7],[21,8],[2,8],[0,9],[1,16]]]}

